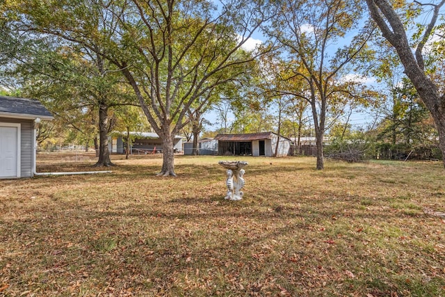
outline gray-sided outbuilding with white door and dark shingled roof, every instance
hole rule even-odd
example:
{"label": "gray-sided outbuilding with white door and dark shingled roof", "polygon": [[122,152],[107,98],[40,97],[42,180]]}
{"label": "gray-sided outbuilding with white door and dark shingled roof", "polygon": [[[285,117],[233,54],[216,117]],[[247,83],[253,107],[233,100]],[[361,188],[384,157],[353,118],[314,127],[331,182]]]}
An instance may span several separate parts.
{"label": "gray-sided outbuilding with white door and dark shingled roof", "polygon": [[33,177],[35,129],[53,119],[37,100],[0,96],[0,179]]}

